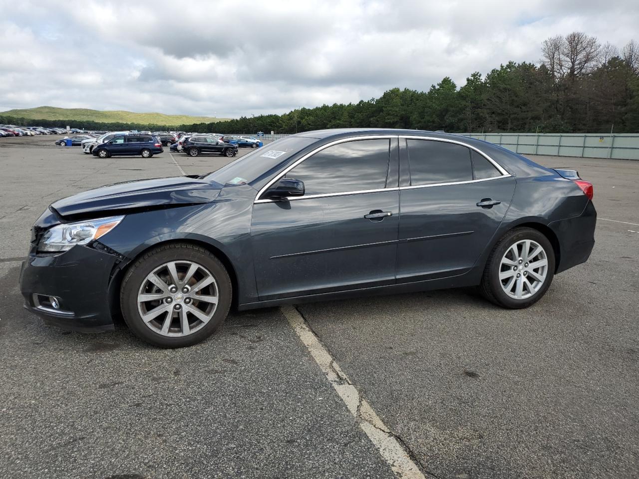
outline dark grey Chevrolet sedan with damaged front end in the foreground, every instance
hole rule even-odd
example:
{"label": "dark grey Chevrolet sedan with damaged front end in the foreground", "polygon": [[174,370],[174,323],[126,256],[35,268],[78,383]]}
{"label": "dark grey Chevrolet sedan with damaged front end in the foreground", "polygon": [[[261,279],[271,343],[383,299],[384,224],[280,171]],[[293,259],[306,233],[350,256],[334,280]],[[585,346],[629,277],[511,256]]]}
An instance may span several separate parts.
{"label": "dark grey Chevrolet sedan with damaged front end in the foreground", "polygon": [[592,184],[493,144],[410,130],[299,133],[203,176],[54,202],[22,265],[25,307],[78,331],[121,314],[190,346],[240,310],[476,285],[538,301],[588,259]]}

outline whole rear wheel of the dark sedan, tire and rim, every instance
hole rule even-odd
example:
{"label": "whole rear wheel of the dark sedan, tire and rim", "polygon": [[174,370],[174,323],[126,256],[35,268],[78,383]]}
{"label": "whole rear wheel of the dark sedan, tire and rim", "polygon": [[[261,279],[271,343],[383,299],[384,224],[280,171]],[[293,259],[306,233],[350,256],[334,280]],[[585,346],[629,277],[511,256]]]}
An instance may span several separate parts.
{"label": "whole rear wheel of the dark sedan, tire and rim", "polygon": [[555,252],[541,232],[521,227],[507,232],[488,256],[480,290],[504,308],[527,308],[539,301],[553,280]]}

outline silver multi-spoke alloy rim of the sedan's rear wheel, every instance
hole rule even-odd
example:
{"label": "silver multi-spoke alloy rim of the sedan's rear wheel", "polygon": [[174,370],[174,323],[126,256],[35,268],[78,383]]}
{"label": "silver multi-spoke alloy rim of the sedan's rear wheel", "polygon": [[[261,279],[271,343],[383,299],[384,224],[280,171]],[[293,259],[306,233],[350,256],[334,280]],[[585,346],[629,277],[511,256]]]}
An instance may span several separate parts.
{"label": "silver multi-spoke alloy rim of the sedan's rear wheel", "polygon": [[548,275],[548,256],[532,239],[522,239],[508,248],[499,267],[499,282],[504,292],[515,300],[525,300],[537,293]]}

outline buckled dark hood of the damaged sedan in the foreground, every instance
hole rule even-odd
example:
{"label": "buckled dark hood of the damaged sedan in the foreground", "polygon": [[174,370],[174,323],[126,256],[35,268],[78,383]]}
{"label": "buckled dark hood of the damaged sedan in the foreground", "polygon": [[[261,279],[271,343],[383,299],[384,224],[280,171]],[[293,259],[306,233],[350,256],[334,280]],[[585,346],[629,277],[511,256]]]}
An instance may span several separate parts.
{"label": "buckled dark hood of the damaged sedan in the foreground", "polygon": [[178,176],[141,179],[102,186],[51,204],[61,217],[82,219],[100,212],[133,213],[213,201],[222,190],[214,181]]}

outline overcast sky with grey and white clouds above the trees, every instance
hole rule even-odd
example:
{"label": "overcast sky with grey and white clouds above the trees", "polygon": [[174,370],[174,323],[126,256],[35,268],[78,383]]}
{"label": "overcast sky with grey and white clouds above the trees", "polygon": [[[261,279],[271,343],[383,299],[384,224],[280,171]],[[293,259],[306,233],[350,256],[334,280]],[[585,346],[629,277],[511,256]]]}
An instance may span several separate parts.
{"label": "overcast sky with grey and white clouds above the trees", "polygon": [[0,111],[235,118],[538,61],[549,36],[639,40],[636,0],[0,0]]}

